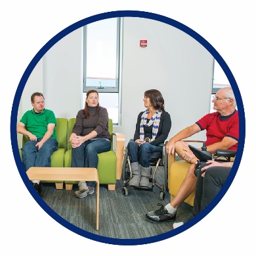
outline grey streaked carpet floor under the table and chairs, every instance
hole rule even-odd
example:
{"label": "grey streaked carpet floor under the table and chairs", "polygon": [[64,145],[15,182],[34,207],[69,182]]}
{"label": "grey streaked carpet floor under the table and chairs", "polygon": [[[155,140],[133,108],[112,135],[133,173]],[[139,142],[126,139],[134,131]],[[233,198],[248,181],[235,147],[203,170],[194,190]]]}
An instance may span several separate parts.
{"label": "grey streaked carpet floor under the table and chairs", "polygon": [[[163,167],[156,174],[158,184],[164,184]],[[73,190],[56,190],[53,183],[43,183],[42,199],[68,223],[91,234],[118,239],[137,239],[157,236],[172,230],[172,223],[153,224],[147,221],[145,214],[158,209],[158,203],[166,205],[170,195],[165,191],[164,200],[160,200],[160,188],[153,191],[134,190],[128,186],[129,194],[123,195],[123,183],[117,181],[116,190],[109,191],[106,185],[100,185],[99,230],[95,230],[96,195],[76,198]],[[177,210],[176,221],[184,221],[192,213],[192,207],[182,203]],[[60,219],[61,219],[60,218]],[[64,225],[65,226],[65,225]]]}

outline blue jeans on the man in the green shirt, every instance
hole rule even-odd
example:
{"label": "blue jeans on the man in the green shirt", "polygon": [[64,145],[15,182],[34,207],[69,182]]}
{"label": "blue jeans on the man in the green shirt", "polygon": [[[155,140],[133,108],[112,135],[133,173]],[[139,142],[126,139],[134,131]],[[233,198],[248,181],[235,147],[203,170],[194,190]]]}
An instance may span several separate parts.
{"label": "blue jeans on the man in the green shirt", "polygon": [[30,167],[51,167],[51,155],[58,150],[58,142],[56,139],[48,139],[43,143],[43,146],[38,150],[35,146],[37,142],[43,138],[29,140],[22,147],[22,163],[26,171]]}

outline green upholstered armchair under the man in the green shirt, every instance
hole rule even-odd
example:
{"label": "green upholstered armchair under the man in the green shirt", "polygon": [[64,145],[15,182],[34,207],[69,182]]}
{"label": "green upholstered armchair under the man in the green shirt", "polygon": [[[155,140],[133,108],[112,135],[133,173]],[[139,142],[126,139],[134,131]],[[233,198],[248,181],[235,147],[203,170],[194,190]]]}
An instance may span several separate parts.
{"label": "green upholstered armchair under the man in the green shirt", "polygon": [[[64,154],[68,150],[68,119],[56,118],[57,125],[56,136],[58,140],[58,150],[53,152],[51,156],[51,167],[64,167]],[[22,137],[22,146],[29,140],[29,137],[24,135]],[[20,158],[22,158],[22,152],[20,150]],[[63,188],[63,181],[42,181],[42,182],[55,182],[56,189]]]}

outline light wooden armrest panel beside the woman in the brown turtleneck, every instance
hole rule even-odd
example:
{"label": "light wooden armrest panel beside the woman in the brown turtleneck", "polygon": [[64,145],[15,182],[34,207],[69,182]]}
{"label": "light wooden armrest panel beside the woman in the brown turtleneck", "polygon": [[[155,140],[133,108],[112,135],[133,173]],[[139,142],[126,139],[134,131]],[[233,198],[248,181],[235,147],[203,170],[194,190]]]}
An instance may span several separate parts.
{"label": "light wooden armrest panel beside the woman in the brown turtleneck", "polygon": [[113,133],[116,136],[116,179],[121,179],[123,166],[123,152],[125,148],[125,135],[121,133]]}

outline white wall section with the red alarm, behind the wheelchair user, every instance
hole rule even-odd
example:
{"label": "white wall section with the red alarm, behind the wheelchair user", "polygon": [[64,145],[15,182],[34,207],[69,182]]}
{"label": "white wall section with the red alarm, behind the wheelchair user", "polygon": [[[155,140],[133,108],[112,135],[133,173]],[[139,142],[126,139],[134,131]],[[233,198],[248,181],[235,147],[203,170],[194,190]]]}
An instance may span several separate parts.
{"label": "white wall section with the red alarm, behind the wheelchair user", "polygon": [[[198,41],[177,28],[144,18],[123,22],[121,127],[133,137],[144,91],[158,89],[171,115],[169,138],[209,112],[213,57]],[[140,39],[148,47],[139,47]],[[204,139],[204,133],[194,136]]]}

